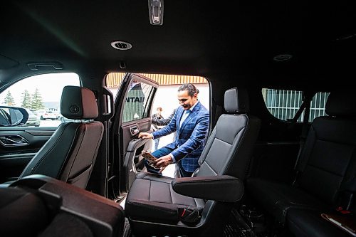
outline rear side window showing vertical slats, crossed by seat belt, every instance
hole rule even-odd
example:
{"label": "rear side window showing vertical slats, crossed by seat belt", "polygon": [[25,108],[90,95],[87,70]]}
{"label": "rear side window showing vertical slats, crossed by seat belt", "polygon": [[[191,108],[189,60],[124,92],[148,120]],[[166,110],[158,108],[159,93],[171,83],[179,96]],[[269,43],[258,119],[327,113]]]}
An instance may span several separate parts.
{"label": "rear side window showing vertical slats, crossed by seat belt", "polygon": [[[270,88],[262,89],[263,99],[271,115],[280,120],[293,119],[303,102],[303,92],[298,90],[276,90]],[[325,103],[329,93],[318,92],[314,95],[310,104],[309,121],[315,117],[325,115]],[[303,122],[304,112],[300,115],[298,122]]]}

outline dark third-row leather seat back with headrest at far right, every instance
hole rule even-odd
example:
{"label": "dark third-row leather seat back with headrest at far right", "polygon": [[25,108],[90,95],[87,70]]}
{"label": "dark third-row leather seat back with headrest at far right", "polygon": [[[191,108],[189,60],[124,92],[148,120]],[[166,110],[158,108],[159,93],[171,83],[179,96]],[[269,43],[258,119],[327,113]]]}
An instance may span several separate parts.
{"label": "dark third-row leather seat back with headrest at far right", "polygon": [[326,204],[335,204],[340,191],[356,191],[355,96],[330,93],[325,112],[328,116],[315,118],[310,127],[296,165],[296,184]]}

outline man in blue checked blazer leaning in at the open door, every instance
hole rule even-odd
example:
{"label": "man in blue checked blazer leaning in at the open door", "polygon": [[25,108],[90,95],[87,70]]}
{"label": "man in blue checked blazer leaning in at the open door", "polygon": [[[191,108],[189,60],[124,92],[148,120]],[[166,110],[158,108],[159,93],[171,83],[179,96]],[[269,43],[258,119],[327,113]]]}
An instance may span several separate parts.
{"label": "man in blue checked blazer leaning in at the open door", "polygon": [[199,167],[198,159],[204,149],[209,130],[209,111],[197,98],[197,88],[184,84],[178,88],[179,107],[166,127],[153,133],[140,132],[138,137],[156,139],[177,131],[174,142],[152,153],[159,158],[152,168],[146,164],[147,171],[160,174],[164,167],[177,162],[182,177],[191,177]]}

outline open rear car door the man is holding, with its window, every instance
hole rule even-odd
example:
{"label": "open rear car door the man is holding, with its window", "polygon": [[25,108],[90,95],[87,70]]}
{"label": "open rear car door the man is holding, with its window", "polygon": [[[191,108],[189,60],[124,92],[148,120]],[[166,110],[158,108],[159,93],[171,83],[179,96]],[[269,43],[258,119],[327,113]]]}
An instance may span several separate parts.
{"label": "open rear car door the man is holding, with its window", "polygon": [[152,139],[139,139],[151,129],[152,103],[158,84],[143,75],[128,73],[115,98],[115,116],[110,126],[109,195],[117,198],[130,189],[142,162],[142,150],[150,150]]}

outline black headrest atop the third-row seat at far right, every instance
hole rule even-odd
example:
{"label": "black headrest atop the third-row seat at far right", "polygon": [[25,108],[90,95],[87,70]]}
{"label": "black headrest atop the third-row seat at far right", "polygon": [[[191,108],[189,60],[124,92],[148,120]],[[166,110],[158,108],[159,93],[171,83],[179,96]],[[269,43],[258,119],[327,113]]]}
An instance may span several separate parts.
{"label": "black headrest atop the third-row seat at far right", "polygon": [[347,91],[330,93],[325,112],[330,116],[355,116],[355,94]]}

